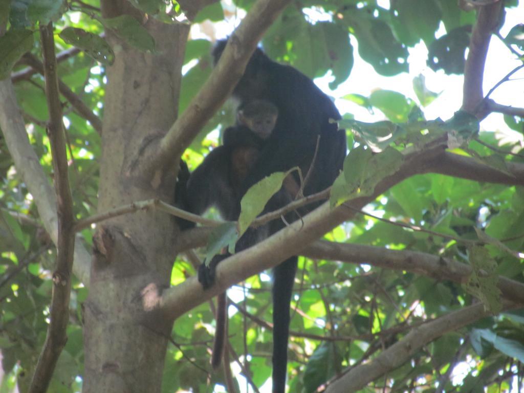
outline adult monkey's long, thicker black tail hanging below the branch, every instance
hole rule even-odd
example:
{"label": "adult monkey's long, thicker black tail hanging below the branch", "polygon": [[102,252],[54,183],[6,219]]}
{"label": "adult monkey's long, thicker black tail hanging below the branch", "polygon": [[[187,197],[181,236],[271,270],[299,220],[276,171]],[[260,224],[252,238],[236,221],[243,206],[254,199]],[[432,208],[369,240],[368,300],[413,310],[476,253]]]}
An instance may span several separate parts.
{"label": "adult monkey's long, thicker black tail hanging below the branch", "polygon": [[284,393],[288,364],[288,338],[297,257],[291,257],[273,270],[273,393]]}

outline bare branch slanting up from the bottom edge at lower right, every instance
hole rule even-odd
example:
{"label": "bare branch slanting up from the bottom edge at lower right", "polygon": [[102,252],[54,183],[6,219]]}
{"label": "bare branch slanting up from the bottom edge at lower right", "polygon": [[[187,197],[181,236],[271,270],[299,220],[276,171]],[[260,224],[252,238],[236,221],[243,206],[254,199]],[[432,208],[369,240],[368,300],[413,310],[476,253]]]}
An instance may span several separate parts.
{"label": "bare branch slanting up from the bottom edge at lower right", "polygon": [[[504,308],[515,307],[515,303],[504,304]],[[444,333],[451,332],[470,323],[488,316],[481,303],[451,312],[434,321],[425,323],[411,330],[394,345],[373,359],[372,362],[362,364],[350,370],[347,374],[329,385],[326,393],[347,393],[365,387],[376,378],[391,372],[407,362],[411,356]]]}

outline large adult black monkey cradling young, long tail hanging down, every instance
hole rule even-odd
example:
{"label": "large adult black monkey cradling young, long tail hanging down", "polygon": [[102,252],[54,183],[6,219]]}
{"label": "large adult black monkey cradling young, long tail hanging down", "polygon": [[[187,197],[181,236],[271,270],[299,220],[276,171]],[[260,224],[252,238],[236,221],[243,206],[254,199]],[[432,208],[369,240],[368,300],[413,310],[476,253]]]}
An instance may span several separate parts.
{"label": "large adult black monkey cradling young, long tail hanging down", "polygon": [[[226,43],[225,40],[218,41],[214,47],[215,64]],[[333,183],[342,169],[346,154],[345,133],[337,130],[336,124],[330,123],[330,118],[340,119],[340,113],[311,79],[288,65],[272,61],[263,51],[256,49],[243,77],[233,90],[233,98],[241,107],[253,100],[269,101],[278,108],[278,118],[275,129],[261,146],[255,161],[247,168],[238,192],[233,192],[230,188],[230,195],[213,195],[215,200],[234,198],[237,195],[237,200],[233,203],[236,210],[231,215],[232,219],[236,219],[239,200],[248,188],[273,172],[287,171],[295,166],[300,167],[303,173],[311,171],[309,181],[304,185],[304,195],[322,191]],[[318,152],[313,162],[318,140]],[[209,169],[202,176],[207,181],[213,181],[215,172],[212,168]],[[198,198],[191,191],[189,196]],[[266,205],[266,211],[278,209],[287,203],[289,198],[285,196],[285,190],[277,193]],[[223,206],[227,213],[230,213],[227,208],[231,208],[231,204]],[[265,228],[266,234],[275,233],[282,227],[283,224],[279,221],[271,222]],[[242,250],[256,243],[261,237],[257,232],[248,230],[239,239],[236,249]],[[201,265],[199,281],[204,288],[213,285],[216,265],[225,257],[227,255],[216,256],[209,267]],[[291,257],[276,266],[273,274],[272,390],[276,393],[283,393],[286,387],[289,306],[296,269],[297,257]]]}

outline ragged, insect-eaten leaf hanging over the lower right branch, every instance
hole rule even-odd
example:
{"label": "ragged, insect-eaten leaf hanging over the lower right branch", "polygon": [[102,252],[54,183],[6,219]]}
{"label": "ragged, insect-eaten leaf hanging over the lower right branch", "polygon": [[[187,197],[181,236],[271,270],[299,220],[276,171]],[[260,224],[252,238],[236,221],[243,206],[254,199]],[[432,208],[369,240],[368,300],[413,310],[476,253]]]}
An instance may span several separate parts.
{"label": "ragged, insect-eaten leaf hanging over the lower right branch", "polygon": [[468,253],[473,272],[463,285],[464,289],[478,298],[486,310],[497,314],[502,309],[500,289],[497,287],[497,263],[485,247],[475,246]]}

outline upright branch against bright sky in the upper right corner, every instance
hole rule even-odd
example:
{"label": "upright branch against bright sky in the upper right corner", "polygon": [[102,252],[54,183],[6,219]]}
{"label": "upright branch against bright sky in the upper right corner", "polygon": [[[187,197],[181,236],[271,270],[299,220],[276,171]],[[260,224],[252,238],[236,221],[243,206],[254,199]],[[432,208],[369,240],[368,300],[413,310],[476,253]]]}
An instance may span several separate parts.
{"label": "upright branch against bright sky in the upper right corner", "polygon": [[464,96],[462,109],[476,115],[478,118],[486,116],[485,108],[479,108],[484,98],[482,82],[484,80],[484,65],[488,52],[489,41],[499,23],[500,10],[503,1],[481,7],[477,21],[473,27],[470,40],[470,51],[464,67]]}

